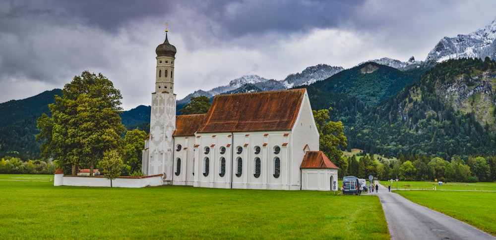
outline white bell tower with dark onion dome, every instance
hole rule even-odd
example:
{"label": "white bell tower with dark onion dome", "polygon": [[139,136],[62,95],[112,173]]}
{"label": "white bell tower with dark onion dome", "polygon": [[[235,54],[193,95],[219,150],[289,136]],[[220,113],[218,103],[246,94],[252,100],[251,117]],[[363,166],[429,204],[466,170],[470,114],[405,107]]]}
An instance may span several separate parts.
{"label": "white bell tower with dark onion dome", "polygon": [[[166,26],[168,24],[166,23]],[[164,174],[164,184],[172,184],[173,134],[176,131],[176,95],[174,94],[174,61],[176,47],[165,41],[155,49],[157,67],[155,92],[152,93],[150,135],[143,150],[142,172],[145,175]]]}

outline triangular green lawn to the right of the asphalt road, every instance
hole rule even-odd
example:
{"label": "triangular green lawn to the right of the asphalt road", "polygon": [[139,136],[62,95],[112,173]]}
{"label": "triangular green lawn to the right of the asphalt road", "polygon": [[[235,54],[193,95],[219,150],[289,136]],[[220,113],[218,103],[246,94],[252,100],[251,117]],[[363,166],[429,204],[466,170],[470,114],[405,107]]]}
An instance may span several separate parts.
{"label": "triangular green lawn to the right of the asphalt road", "polygon": [[[486,184],[486,183],[481,183]],[[496,192],[475,191],[395,191],[438,212],[466,222],[496,236]]]}

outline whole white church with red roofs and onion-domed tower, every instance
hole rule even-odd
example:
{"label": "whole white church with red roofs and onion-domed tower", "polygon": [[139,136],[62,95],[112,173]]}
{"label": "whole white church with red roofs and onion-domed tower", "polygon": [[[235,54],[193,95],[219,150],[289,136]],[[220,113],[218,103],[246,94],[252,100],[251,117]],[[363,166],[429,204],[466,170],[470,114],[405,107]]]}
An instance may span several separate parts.
{"label": "whole white church with red roofs and onion-domed tower", "polygon": [[338,167],[319,151],[306,89],[217,95],[206,114],[176,116],[176,47],[156,48],[155,92],[142,173],[164,185],[336,191]]}

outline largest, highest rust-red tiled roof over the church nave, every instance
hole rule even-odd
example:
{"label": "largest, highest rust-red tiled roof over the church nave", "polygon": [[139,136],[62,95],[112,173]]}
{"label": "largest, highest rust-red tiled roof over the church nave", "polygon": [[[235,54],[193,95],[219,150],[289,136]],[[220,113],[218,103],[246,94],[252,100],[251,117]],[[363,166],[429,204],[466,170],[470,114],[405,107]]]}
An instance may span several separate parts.
{"label": "largest, highest rust-red tiled roof over the church nave", "polygon": [[306,91],[217,95],[198,133],[291,130]]}

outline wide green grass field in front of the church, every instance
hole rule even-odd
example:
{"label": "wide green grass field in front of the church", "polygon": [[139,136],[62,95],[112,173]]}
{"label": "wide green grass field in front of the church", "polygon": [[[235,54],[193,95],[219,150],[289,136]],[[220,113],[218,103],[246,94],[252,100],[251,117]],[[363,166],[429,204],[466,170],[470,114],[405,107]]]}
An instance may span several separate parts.
{"label": "wide green grass field in front of the church", "polygon": [[390,239],[371,195],[54,187],[51,178],[0,175],[0,239]]}

